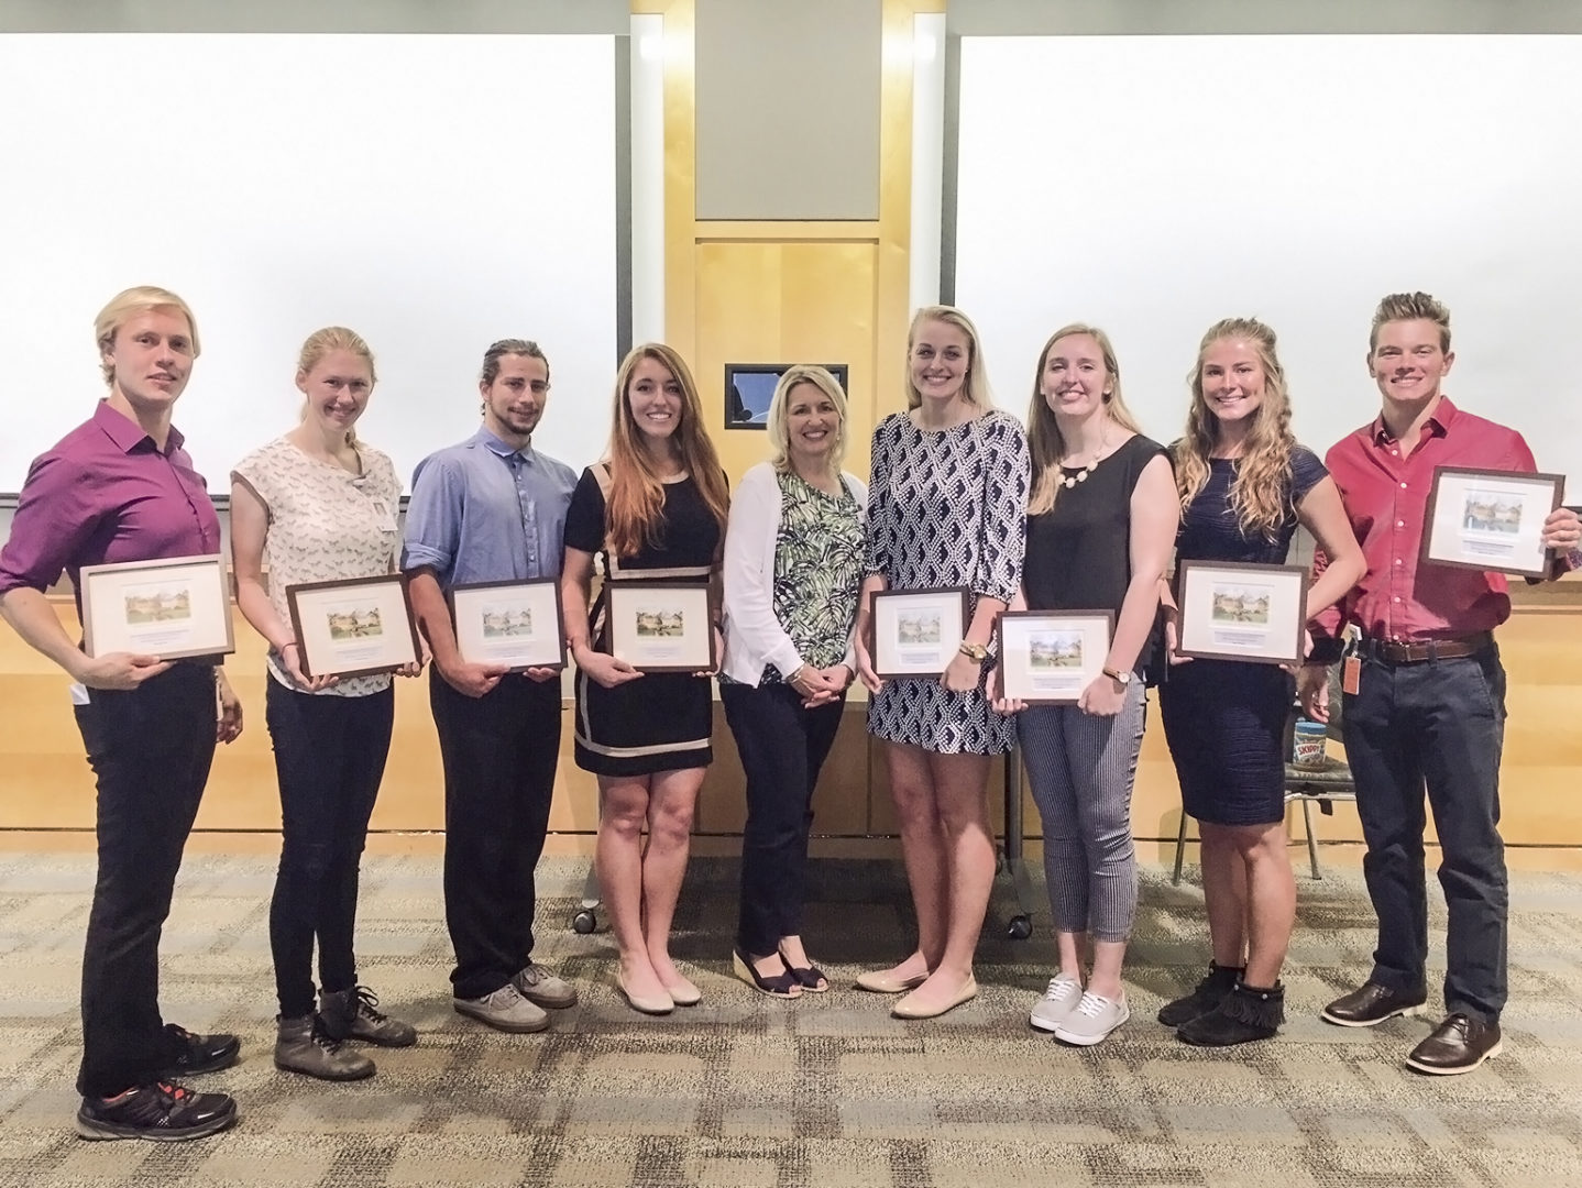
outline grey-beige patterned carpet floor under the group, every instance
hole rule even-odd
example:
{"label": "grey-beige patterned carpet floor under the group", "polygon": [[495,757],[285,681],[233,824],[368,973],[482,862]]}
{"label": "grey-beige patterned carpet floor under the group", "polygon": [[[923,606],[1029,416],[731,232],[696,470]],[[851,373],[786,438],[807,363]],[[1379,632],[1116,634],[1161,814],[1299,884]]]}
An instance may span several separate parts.
{"label": "grey-beige patterned carpet floor under the group", "polygon": [[[242,1035],[242,1063],[202,1079],[239,1098],[242,1120],[157,1145],[89,1144],[70,1128],[92,859],[0,856],[0,1183],[1582,1185],[1574,876],[1512,876],[1504,1055],[1471,1076],[1421,1077],[1400,1061],[1424,1020],[1343,1030],[1316,1017],[1368,968],[1373,919],[1356,873],[1299,878],[1281,1038],[1201,1052],[1153,1020],[1205,960],[1201,892],[1156,867],[1142,875],[1131,1022],[1088,1050],[1027,1027],[1054,946],[1047,911],[1033,940],[1003,940],[1005,883],[979,998],[900,1022],[886,998],[848,989],[857,970],[903,955],[899,864],[815,864],[805,935],[837,989],[780,1003],[729,974],[736,864],[694,861],[676,954],[704,1001],[645,1019],[611,984],[607,933],[570,929],[584,868],[541,867],[538,941],[582,1001],[547,1033],[505,1036],[451,1011],[438,861],[370,859],[362,981],[422,1038],[377,1052],[372,1080],[335,1087],[271,1063],[272,864],[195,856],[165,932],[163,1006],[195,1030]],[[1443,908],[1433,917],[1443,932]],[[1443,970],[1443,949],[1430,962]]]}

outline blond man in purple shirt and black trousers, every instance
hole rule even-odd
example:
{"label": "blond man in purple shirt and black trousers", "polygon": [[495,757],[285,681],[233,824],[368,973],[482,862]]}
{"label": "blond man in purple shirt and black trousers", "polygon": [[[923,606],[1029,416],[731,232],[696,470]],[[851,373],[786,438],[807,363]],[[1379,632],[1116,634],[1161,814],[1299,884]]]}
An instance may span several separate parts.
{"label": "blond man in purple shirt and black trousers", "polygon": [[0,550],[0,615],[76,682],[98,781],[78,1133],[196,1139],[236,1122],[236,1103],[174,1077],[234,1065],[239,1042],[163,1022],[160,927],[215,742],[240,734],[242,707],[212,663],[85,655],[44,590],[62,571],[76,584],[85,565],[220,552],[220,520],[171,426],[198,331],[174,293],[134,288],[100,312],[95,335],[109,395],[28,471]]}

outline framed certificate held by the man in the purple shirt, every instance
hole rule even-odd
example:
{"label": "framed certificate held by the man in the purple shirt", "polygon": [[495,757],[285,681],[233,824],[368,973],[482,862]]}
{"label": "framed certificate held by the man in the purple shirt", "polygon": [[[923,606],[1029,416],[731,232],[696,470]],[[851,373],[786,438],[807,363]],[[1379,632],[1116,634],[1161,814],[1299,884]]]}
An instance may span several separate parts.
{"label": "framed certificate held by the man in the purple shirt", "polygon": [[78,588],[82,650],[90,656],[133,652],[182,660],[236,652],[231,582],[220,555],[85,565]]}

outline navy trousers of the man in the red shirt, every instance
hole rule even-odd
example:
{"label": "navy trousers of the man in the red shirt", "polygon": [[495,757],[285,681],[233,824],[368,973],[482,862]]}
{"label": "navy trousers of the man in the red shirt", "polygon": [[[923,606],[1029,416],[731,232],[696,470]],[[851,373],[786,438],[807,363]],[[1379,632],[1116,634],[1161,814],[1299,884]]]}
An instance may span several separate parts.
{"label": "navy trousers of the man in the red shirt", "polygon": [[1497,1022],[1506,997],[1506,875],[1500,838],[1504,669],[1476,656],[1421,664],[1365,660],[1345,702],[1346,759],[1368,843],[1362,872],[1380,921],[1372,979],[1425,989],[1429,903],[1424,788],[1449,908],[1444,1006]]}

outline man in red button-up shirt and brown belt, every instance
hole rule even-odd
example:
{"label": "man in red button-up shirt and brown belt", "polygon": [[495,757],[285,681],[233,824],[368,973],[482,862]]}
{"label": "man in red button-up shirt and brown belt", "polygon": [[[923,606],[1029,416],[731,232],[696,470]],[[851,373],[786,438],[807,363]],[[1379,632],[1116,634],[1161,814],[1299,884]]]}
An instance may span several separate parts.
{"label": "man in red button-up shirt and brown belt", "polygon": [[[1451,315],[1425,293],[1384,297],[1373,315],[1368,372],[1380,416],[1329,451],[1367,573],[1315,626],[1299,688],[1305,712],[1329,717],[1324,666],[1342,634],[1362,639],[1346,660],[1346,759],[1368,853],[1362,868],[1378,914],[1373,973],[1324,1008],[1340,1027],[1373,1027],[1422,1014],[1429,954],[1424,886],[1424,789],[1433,808],[1449,906],[1446,1019],[1406,1057],[1419,1073],[1470,1073],[1500,1052],[1506,998],[1506,873],[1500,838],[1504,669],[1493,628],[1511,615],[1497,573],[1419,560],[1436,467],[1531,473],[1522,435],[1459,410],[1441,392],[1449,373]],[[1577,514],[1544,522],[1558,576],[1582,539]]]}

